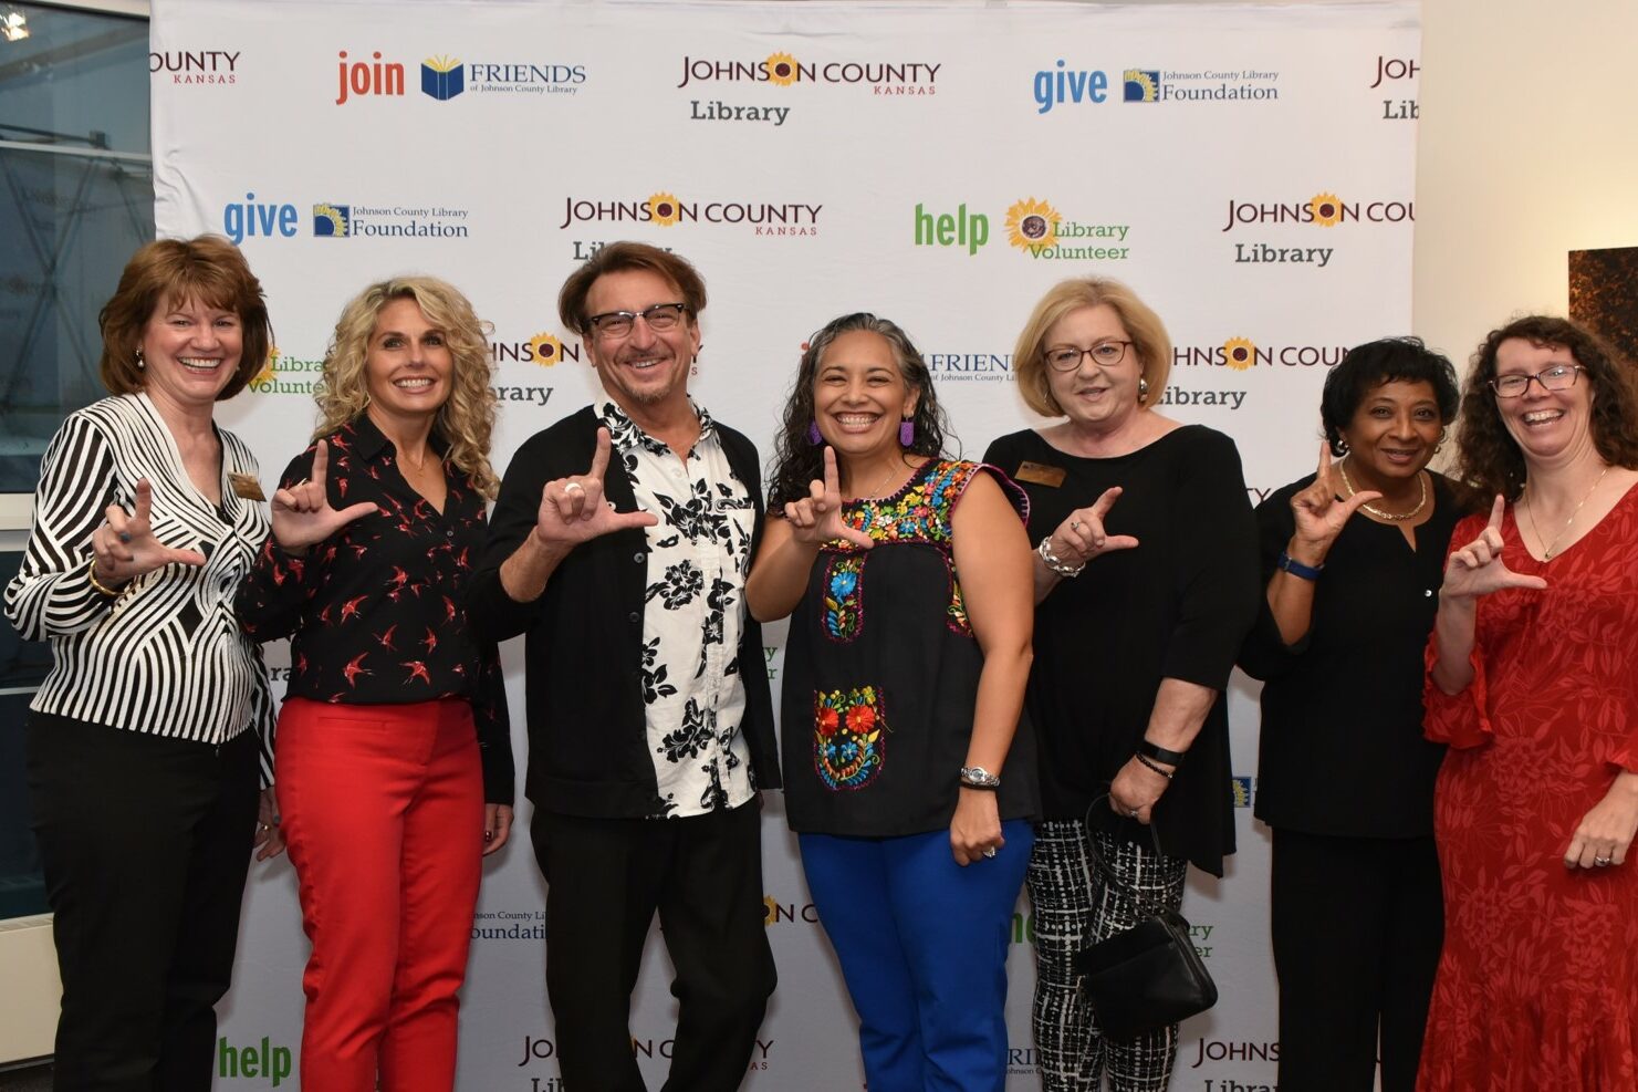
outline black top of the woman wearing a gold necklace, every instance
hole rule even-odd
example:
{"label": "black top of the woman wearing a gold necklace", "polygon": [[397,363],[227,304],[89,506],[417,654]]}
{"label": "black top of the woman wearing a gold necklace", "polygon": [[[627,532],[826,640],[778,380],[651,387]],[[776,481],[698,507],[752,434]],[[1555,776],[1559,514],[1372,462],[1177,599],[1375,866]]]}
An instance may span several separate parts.
{"label": "black top of the woman wearing a gold necklace", "polygon": [[[1325,554],[1297,644],[1279,639],[1263,595],[1240,666],[1265,680],[1256,817],[1271,826],[1353,838],[1433,833],[1445,748],[1422,738],[1422,656],[1450,535],[1466,513],[1450,484],[1432,479],[1433,515],[1414,528],[1415,549],[1397,526],[1348,520]],[[1296,528],[1291,497],[1312,482],[1309,474],[1256,508],[1265,589]]]}

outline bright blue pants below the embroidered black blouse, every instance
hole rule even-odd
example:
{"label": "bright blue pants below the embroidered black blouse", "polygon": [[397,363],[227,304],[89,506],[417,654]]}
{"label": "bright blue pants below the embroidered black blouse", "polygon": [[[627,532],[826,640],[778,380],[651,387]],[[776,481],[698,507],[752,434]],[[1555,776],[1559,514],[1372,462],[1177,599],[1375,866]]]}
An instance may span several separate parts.
{"label": "bright blue pants below the embroidered black blouse", "polygon": [[962,867],[950,831],[803,835],[803,869],[847,992],[870,1092],[1001,1092],[1007,940],[1035,835]]}

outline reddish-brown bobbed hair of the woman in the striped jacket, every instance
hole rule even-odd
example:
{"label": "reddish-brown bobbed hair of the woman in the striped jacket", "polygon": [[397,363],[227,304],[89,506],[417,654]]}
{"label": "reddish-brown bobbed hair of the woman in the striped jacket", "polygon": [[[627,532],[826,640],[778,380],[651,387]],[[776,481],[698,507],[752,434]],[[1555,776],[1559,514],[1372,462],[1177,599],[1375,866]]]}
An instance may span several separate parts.
{"label": "reddish-brown bobbed hair of the woman in the striped jacket", "polygon": [[216,395],[218,402],[244,390],[267,367],[274,328],[267,321],[262,282],[239,248],[219,234],[159,239],[131,256],[120,274],[120,287],[97,316],[103,334],[102,380],[110,394],[136,394],[147,385],[138,349],[147,320],[165,300],[172,305],[195,300],[239,316],[244,331],[239,369]]}

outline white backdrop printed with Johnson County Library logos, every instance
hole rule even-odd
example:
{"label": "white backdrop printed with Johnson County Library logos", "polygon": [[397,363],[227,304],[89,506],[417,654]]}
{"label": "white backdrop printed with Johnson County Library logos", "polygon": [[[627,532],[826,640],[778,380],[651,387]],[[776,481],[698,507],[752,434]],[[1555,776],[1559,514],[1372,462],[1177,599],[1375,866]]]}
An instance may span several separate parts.
{"label": "white backdrop printed with Johnson County Library logos", "polygon": [[[863,308],[911,331],[962,451],[981,453],[1035,423],[1011,361],[1035,298],[1120,277],[1176,341],[1161,410],[1232,435],[1255,503],[1312,469],[1327,367],[1409,330],[1417,49],[1414,2],[156,0],[157,221],[228,234],[267,287],[277,359],[219,416],[269,482],[306,441],[341,305],[398,272],[452,280],[493,321],[505,467],[588,400],[555,316],[563,277],[642,239],[704,272],[693,390],[765,448],[804,338]],[[781,628],[767,656],[778,684]],[[282,692],[285,648],[269,661]],[[1222,1002],[1186,1025],[1173,1089],[1274,1082],[1256,720],[1237,682],[1240,854],[1222,882],[1191,877],[1186,903]],[[477,1092],[560,1087],[542,882],[518,831],[473,923],[460,1087]],[[765,859],[780,990],[747,1087],[857,1089],[852,1010],[778,794]],[[1029,935],[1020,899],[1009,1089],[1037,1087]],[[288,864],[254,869],[218,1087],[296,1082],[305,958]],[[654,1087],[668,981],[652,943],[631,1030]]]}

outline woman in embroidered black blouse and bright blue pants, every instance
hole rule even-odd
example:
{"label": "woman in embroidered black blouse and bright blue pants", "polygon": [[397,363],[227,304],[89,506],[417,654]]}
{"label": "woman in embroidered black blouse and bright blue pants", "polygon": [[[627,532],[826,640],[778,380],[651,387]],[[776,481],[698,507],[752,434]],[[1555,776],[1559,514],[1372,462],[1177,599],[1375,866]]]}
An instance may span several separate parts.
{"label": "woman in embroidered black blouse and bright blue pants", "polygon": [[745,598],[762,621],[791,615],[785,807],[870,1087],[999,1092],[1037,810],[1030,554],[1017,487],[942,449],[904,331],[865,313],[824,326]]}

